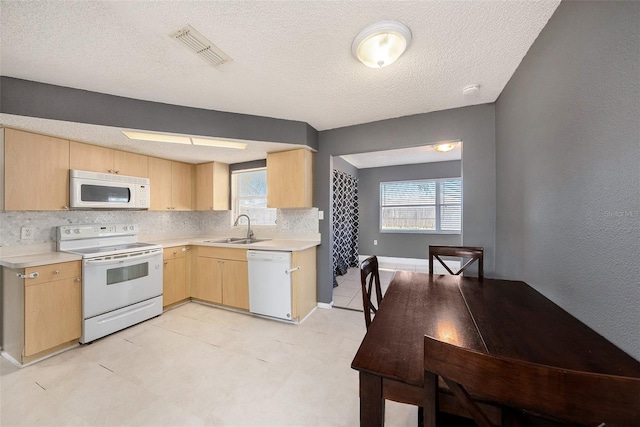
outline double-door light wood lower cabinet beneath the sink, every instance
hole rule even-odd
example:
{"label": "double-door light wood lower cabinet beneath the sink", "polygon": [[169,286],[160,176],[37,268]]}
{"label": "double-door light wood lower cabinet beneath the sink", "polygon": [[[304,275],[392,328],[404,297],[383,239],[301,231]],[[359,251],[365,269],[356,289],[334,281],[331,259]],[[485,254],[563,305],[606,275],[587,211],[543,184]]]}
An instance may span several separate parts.
{"label": "double-door light wood lower cabinet beneath the sink", "polygon": [[249,310],[246,249],[198,247],[195,276],[192,298]]}

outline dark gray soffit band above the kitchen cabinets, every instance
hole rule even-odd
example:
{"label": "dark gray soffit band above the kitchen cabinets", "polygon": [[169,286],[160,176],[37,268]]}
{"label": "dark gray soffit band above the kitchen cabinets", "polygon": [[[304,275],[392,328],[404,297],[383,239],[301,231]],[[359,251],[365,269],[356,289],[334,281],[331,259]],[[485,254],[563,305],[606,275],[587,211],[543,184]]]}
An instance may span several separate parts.
{"label": "dark gray soffit band above the kitchen cabinets", "polygon": [[18,116],[318,148],[307,123],[124,98],[0,77],[0,112]]}

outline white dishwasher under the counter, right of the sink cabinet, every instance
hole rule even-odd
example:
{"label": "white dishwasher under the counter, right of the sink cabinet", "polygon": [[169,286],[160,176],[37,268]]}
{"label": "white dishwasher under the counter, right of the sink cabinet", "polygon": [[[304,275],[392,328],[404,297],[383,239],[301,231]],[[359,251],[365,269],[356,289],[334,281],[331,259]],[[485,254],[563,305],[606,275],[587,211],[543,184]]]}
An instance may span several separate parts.
{"label": "white dishwasher under the counter, right of the sink cabinet", "polygon": [[247,251],[249,311],[292,320],[291,252]]}

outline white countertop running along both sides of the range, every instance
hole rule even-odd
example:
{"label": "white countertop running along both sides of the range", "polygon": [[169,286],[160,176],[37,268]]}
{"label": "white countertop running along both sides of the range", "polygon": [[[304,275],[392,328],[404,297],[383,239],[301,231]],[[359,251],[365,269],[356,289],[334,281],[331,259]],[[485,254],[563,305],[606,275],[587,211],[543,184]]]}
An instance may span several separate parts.
{"label": "white countertop running along both sides of the range", "polygon": [[[165,248],[173,246],[219,246],[224,248],[237,248],[237,249],[255,249],[255,250],[268,250],[268,251],[286,251],[295,252],[318,246],[320,244],[319,235],[317,238],[305,238],[299,236],[283,236],[267,237],[260,236],[259,238],[266,238],[263,242],[256,242],[251,244],[232,244],[232,243],[211,243],[205,242],[205,240],[220,240],[226,237],[238,237],[237,235],[231,236],[230,234],[214,235],[214,236],[144,236],[139,239],[145,243],[157,243]],[[82,259],[80,255],[69,254],[66,252],[56,252],[43,245],[33,245],[33,253],[29,253],[29,248],[25,246],[11,248],[2,248],[0,253],[0,266],[8,268],[26,268],[35,267],[39,265],[57,264],[59,262],[79,261]],[[12,250],[13,249],[13,250]]]}

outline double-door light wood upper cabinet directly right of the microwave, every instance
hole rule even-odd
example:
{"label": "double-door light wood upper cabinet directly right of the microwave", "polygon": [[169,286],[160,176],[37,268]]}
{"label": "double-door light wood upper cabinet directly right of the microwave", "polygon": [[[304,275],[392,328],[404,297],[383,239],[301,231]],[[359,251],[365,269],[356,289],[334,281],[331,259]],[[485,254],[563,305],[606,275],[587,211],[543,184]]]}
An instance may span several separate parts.
{"label": "double-door light wood upper cabinet directly right of the microwave", "polygon": [[193,165],[149,157],[150,209],[192,210],[193,175]]}

